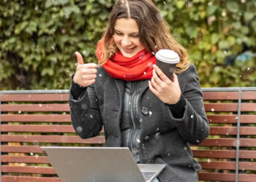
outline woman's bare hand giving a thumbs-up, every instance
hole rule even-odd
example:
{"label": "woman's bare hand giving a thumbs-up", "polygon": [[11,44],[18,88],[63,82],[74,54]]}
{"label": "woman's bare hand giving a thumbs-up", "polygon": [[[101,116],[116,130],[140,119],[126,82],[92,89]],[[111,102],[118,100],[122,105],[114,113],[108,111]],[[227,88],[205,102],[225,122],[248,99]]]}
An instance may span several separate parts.
{"label": "woman's bare hand giving a thumbs-up", "polygon": [[77,70],[75,71],[75,76],[73,81],[82,87],[88,87],[90,84],[95,82],[97,77],[97,64],[86,63],[83,64],[83,57],[79,52],[75,52],[78,59]]}

